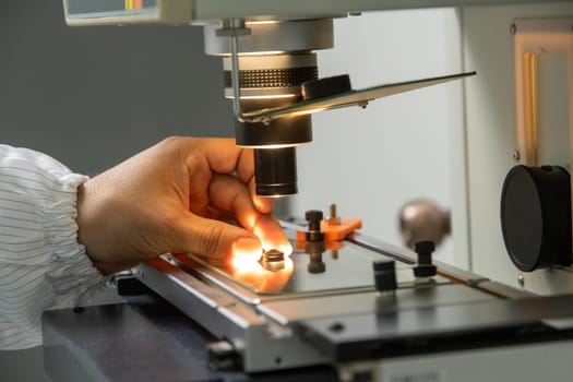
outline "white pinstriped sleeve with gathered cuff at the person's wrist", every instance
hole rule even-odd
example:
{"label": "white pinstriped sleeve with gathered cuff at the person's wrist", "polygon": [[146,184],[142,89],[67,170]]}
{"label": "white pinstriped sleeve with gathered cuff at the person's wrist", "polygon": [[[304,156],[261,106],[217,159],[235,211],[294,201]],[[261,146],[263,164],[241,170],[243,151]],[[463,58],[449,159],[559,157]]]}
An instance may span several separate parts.
{"label": "white pinstriped sleeve with gathered cuff at the person's wrist", "polygon": [[41,313],[83,305],[104,277],[76,241],[76,190],[87,177],[0,145],[0,349],[41,344]]}

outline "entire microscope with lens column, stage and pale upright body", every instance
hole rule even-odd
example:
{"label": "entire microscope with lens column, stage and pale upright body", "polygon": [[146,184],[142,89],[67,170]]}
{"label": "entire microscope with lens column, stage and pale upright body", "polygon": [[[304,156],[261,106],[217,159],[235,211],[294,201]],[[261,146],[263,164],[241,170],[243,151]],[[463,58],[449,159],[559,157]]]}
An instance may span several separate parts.
{"label": "entire microscope with lens column, stage and pale upright body", "polygon": [[[461,175],[466,192],[453,206],[465,213],[453,215],[452,227],[454,235],[456,227],[467,229],[475,260],[471,270],[462,270],[435,261],[433,242],[420,241],[409,250],[356,230],[332,239],[345,219],[309,211],[306,223],[283,223],[295,248],[290,256],[270,249],[255,264],[222,265],[189,253],[165,254],[140,264],[126,283],[143,285],[164,311],[175,307],[172,315],[158,313],[155,305],[94,307],[75,314],[74,325],[68,325],[62,322],[70,322],[72,313],[48,313],[45,343],[71,346],[87,365],[86,373],[99,380],[114,380],[121,365],[102,356],[102,338],[85,341],[82,329],[103,324],[109,324],[108,335],[121,338],[132,357],[148,357],[148,347],[141,337],[133,342],[130,331],[152,338],[154,357],[169,357],[169,362],[150,357],[145,366],[130,369],[131,378],[150,370],[165,379],[191,375],[187,363],[190,338],[195,337],[189,333],[190,326],[199,325],[210,335],[207,361],[220,379],[232,369],[248,375],[299,370],[312,380],[319,377],[309,370],[318,367],[326,370],[320,378],[333,381],[568,380],[563,365],[573,346],[566,177],[573,127],[573,7],[547,3],[64,0],[70,25],[203,27],[206,53],[223,57],[237,144],[254,148],[256,193],[268,198],[297,193],[296,147],[312,141],[312,114],[366,107],[383,96],[469,77],[464,80],[467,135]],[[467,72],[363,89],[354,89],[346,75],[319,76],[315,51],[333,47],[334,19],[434,7],[459,7],[468,26]],[[504,22],[506,14],[513,14],[508,36],[488,39],[484,21]],[[502,59],[511,58],[513,75],[499,79],[501,69],[489,61],[497,51],[488,49],[508,40],[513,49]],[[492,106],[489,92],[508,82],[515,95],[511,106],[486,108]],[[544,92],[554,88],[561,92],[558,98],[547,98]],[[547,99],[565,99],[560,104],[565,111],[556,111],[556,103]],[[563,112],[564,126],[544,130],[544,123]],[[498,131],[498,124],[488,123],[499,116],[516,123]],[[485,158],[477,148],[492,142],[500,147]],[[556,145],[565,153],[559,158],[552,156]],[[506,266],[503,275],[487,267],[502,261],[515,265]],[[114,329],[114,323],[124,322],[133,325]],[[123,365],[131,362],[115,357]]]}

